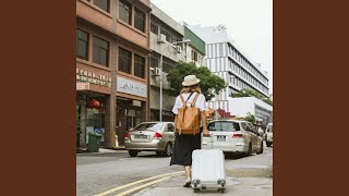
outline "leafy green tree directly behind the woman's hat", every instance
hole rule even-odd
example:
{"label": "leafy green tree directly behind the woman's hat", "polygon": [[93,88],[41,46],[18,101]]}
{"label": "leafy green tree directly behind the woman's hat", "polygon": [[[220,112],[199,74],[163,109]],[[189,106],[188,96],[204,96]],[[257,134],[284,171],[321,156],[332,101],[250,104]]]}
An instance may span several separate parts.
{"label": "leafy green tree directly behind the woman's hat", "polygon": [[178,96],[182,89],[183,78],[186,75],[196,75],[201,79],[200,87],[207,101],[227,87],[226,82],[221,77],[212,74],[206,66],[197,68],[193,62],[178,62],[176,68],[167,75],[167,81],[170,83],[171,88],[166,91],[171,96]]}

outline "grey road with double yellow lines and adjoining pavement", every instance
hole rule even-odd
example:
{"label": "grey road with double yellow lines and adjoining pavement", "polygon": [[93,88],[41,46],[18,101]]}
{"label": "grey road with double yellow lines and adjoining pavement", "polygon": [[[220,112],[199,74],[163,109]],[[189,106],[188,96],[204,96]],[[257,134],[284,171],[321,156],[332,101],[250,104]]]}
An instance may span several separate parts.
{"label": "grey road with double yellow lines and adjoining pavement", "polygon": [[[158,157],[155,152],[141,152],[137,157],[131,158],[125,150],[107,155],[76,156],[76,195],[193,194],[191,188],[182,187],[182,167],[170,167],[169,162],[170,158]],[[227,157],[226,174],[228,195],[233,192],[234,195],[242,193],[248,196],[246,187],[254,188],[250,189],[252,195],[255,191],[260,195],[270,195],[273,148],[265,146],[264,154],[245,158]]]}

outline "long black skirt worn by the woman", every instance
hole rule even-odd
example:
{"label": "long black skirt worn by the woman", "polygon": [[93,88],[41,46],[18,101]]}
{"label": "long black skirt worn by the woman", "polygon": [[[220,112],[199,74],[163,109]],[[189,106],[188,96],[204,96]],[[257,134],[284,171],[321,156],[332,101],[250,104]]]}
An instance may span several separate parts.
{"label": "long black skirt worn by the woman", "polygon": [[192,166],[192,152],[201,149],[201,133],[196,135],[179,135],[176,133],[173,154],[170,166]]}

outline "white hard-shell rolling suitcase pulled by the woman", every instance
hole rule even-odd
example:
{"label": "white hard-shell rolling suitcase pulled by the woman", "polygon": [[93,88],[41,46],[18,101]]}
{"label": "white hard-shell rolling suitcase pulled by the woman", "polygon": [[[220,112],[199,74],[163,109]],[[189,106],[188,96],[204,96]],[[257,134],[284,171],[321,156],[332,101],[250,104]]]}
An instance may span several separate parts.
{"label": "white hard-shell rolling suitcase pulled by the woman", "polygon": [[197,149],[192,154],[192,188],[217,189],[226,186],[225,156],[220,149]]}

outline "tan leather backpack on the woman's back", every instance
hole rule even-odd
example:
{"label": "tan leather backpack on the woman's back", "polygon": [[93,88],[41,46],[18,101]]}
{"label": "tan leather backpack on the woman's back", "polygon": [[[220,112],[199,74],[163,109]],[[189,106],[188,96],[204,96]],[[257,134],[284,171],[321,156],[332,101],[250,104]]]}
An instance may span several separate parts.
{"label": "tan leather backpack on the woman's back", "polygon": [[200,109],[194,107],[198,95],[196,94],[190,107],[186,106],[183,96],[180,95],[183,107],[178,109],[177,122],[174,122],[179,135],[196,135],[200,133]]}

